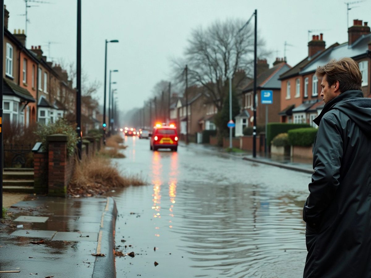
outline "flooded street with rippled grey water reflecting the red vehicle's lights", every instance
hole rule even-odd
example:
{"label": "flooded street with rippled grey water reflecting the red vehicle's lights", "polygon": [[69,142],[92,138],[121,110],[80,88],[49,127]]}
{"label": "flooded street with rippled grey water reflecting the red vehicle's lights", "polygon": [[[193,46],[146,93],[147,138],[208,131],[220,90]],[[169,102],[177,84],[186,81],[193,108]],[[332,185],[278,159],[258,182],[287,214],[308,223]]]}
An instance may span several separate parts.
{"label": "flooded street with rippled grey water reflecting the red vehicle's lights", "polygon": [[148,185],[112,193],[116,249],[135,252],[116,257],[117,277],[302,276],[311,175],[197,145],[153,152],[132,137],[125,145],[119,169]]}

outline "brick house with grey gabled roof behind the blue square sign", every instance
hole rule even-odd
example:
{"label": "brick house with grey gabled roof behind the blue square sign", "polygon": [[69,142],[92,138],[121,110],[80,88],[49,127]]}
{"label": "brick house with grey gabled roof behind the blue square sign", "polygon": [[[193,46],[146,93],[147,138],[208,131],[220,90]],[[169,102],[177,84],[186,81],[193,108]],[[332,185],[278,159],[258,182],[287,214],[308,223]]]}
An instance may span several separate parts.
{"label": "brick house with grey gabled roof behind the blue square sign", "polygon": [[[276,59],[273,63],[272,68],[268,68],[267,61],[259,60],[258,65],[260,66],[261,73],[257,75],[256,80],[256,124],[265,125],[265,106],[260,104],[261,91],[272,90],[273,91],[273,104],[268,106],[268,121],[279,122],[278,113],[280,111],[280,95],[281,95],[281,84],[279,76],[282,73],[288,71],[291,67],[286,63],[284,59]],[[259,67],[258,67],[259,68]],[[242,136],[243,129],[253,124],[253,94],[254,94],[254,81],[250,81],[245,86],[240,95],[242,102],[242,111],[236,118],[236,130],[235,136]]]}

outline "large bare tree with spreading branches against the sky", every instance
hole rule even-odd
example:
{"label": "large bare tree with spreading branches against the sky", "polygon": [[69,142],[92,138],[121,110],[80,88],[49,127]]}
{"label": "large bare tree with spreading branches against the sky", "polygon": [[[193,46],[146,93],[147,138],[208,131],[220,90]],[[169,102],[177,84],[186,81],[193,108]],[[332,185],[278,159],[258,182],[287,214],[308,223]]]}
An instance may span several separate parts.
{"label": "large bare tree with spreading branches against the sky", "polygon": [[[188,86],[196,84],[207,89],[207,95],[218,110],[223,106],[229,76],[244,69],[253,72],[254,33],[252,25],[242,30],[245,21],[230,19],[216,21],[207,29],[198,27],[191,33],[183,60],[173,61],[175,79],[184,82],[184,67],[188,65]],[[257,42],[260,57],[267,55],[264,42]],[[238,86],[242,80],[234,80]]]}

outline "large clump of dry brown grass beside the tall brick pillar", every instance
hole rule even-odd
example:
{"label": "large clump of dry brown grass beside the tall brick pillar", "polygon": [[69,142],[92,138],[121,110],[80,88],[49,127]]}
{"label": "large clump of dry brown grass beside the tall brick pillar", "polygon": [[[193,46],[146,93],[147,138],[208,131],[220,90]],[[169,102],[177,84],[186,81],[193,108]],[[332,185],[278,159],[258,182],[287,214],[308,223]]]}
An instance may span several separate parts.
{"label": "large clump of dry brown grass beside the tall brick pillar", "polygon": [[102,195],[113,188],[144,184],[145,181],[139,175],[122,176],[109,159],[95,156],[82,163],[76,163],[68,193],[75,197],[90,197]]}

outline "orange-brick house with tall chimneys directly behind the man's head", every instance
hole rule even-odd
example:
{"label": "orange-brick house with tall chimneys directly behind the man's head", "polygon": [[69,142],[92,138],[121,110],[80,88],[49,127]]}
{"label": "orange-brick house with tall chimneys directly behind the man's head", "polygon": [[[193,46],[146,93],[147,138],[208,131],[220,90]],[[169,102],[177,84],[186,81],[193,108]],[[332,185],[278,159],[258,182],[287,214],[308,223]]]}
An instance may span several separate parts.
{"label": "orange-brick house with tall chimneys directly behind the man's head", "polygon": [[308,56],[280,76],[280,122],[308,123],[317,127],[313,119],[321,113],[324,103],[320,96],[321,81],[315,76],[315,72],[318,66],[328,63],[331,59],[354,59],[362,73],[362,91],[365,97],[370,96],[370,40],[370,27],[367,22],[362,26],[362,20],[354,20],[353,26],[348,28],[348,42],[335,43],[327,49],[323,34],[313,36],[308,43]]}

